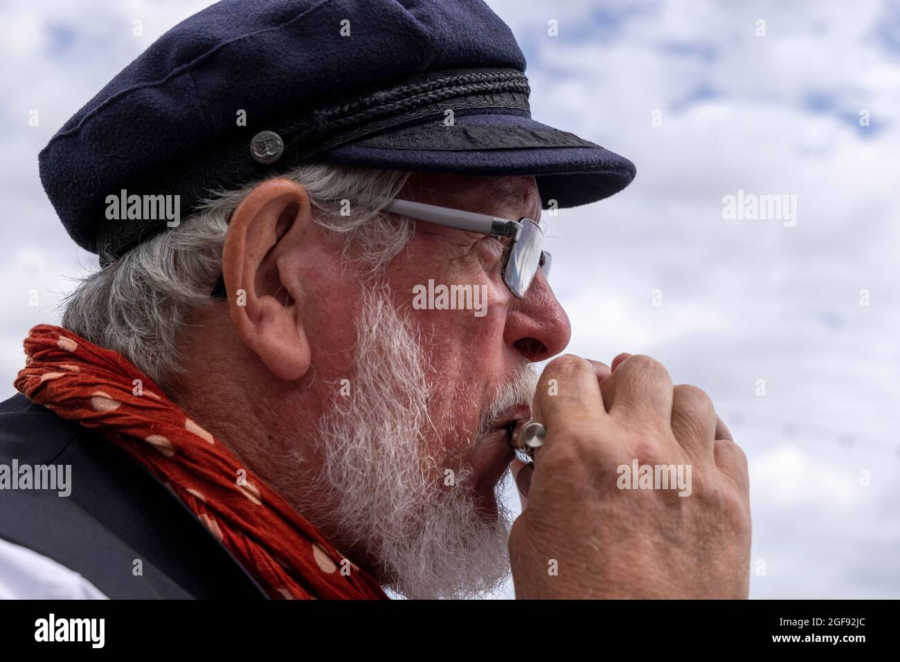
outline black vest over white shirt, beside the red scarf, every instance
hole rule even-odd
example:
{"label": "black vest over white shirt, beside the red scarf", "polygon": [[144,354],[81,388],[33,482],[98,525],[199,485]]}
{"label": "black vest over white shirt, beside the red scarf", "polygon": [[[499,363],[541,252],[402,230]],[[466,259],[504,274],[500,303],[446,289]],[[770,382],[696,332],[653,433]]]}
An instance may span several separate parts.
{"label": "black vest over white shirt, beside the red scarf", "polygon": [[[0,538],[80,573],[111,598],[266,595],[138,461],[21,393],[0,403],[0,464],[71,465],[71,494],[0,489]],[[135,559],[143,574],[135,576]]]}

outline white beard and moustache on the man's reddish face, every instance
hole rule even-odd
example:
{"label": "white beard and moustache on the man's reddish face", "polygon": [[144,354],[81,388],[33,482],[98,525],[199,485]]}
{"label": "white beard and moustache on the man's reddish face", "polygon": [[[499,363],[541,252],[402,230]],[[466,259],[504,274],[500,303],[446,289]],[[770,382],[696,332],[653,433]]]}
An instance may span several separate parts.
{"label": "white beard and moustache on the man's reddish face", "polygon": [[[324,461],[313,471],[303,461],[285,471],[303,493],[294,488],[285,496],[330,532],[338,550],[365,550],[377,564],[376,576],[401,595],[464,598],[496,590],[509,577],[512,514],[502,498],[509,472],[495,488],[497,518],[486,521],[476,506],[471,468],[458,467],[454,484],[445,485],[445,470],[458,466],[458,453],[436,458],[424,451],[428,434],[446,431],[453,421],[437,405],[429,410],[429,400],[434,405],[446,398],[434,392],[429,398],[428,358],[386,288],[365,291],[356,329],[350,395],[336,398],[312,440]],[[482,412],[474,437],[493,429],[503,409],[529,405],[536,380],[523,361]]]}

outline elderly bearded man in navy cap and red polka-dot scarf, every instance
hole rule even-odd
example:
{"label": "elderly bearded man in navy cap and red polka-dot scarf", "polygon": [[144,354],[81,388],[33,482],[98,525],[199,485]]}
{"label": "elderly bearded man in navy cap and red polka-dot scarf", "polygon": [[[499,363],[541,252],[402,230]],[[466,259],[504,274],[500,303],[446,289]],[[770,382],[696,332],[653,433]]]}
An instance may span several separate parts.
{"label": "elderly bearded man in navy cap and red polka-dot scarf", "polygon": [[70,494],[0,492],[0,587],[745,597],[707,395],[626,353],[537,376],[571,335],[541,210],[635,170],[533,121],[524,70],[478,0],[226,0],[77,112],[40,174],[102,268],[0,413]]}

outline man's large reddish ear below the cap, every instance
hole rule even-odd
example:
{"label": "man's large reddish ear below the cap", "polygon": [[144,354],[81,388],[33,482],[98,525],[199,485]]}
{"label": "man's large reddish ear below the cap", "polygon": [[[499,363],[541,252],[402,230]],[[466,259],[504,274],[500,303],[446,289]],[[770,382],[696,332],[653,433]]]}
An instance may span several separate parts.
{"label": "man's large reddish ear below the cap", "polygon": [[285,257],[302,246],[312,223],[310,199],[287,179],[259,184],[231,215],[222,250],[229,313],[241,341],[282,380],[310,369],[301,292]]}

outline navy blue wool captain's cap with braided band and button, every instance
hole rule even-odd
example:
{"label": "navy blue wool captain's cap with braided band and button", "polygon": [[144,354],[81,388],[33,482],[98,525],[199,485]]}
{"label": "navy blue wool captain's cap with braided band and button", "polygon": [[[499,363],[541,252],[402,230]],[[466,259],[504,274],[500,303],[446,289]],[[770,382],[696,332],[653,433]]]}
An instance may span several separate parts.
{"label": "navy blue wool captain's cap with braided band and button", "polygon": [[223,0],[76,112],[40,179],[103,263],[167,227],[114,218],[108,199],[177,195],[184,215],[304,162],[531,174],[545,208],[625,188],[626,158],[531,119],[525,65],[481,0]]}

